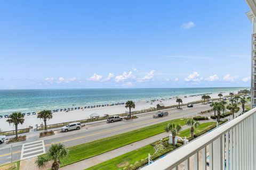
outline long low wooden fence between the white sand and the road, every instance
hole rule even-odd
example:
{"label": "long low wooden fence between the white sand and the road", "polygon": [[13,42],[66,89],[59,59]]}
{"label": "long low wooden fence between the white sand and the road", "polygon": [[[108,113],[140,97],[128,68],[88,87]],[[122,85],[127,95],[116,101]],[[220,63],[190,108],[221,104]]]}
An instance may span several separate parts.
{"label": "long low wooden fence between the white sand and the road", "polygon": [[[218,98],[217,99],[212,99],[212,100],[218,100]],[[190,102],[190,104],[199,104],[199,103],[202,103],[202,102],[203,102],[203,100],[198,100],[198,101]],[[164,110],[164,109],[177,108],[178,106],[179,105],[172,105],[172,106],[165,106],[165,107],[161,107],[161,108],[143,109],[141,111],[133,111],[133,112],[131,112],[131,114],[136,115],[136,114],[141,114],[141,113],[156,112],[156,111],[161,111],[161,110]],[[180,104],[180,106],[187,106],[187,104]],[[129,115],[129,113],[122,113],[122,114],[115,114],[115,115],[123,117],[123,116]],[[109,115],[109,116],[111,116],[111,115]],[[84,119],[84,120],[76,120],[76,121],[71,121],[71,122],[49,124],[49,125],[46,125],[46,126],[47,126],[47,129],[53,129],[53,128],[60,128],[60,127],[65,126],[69,123],[74,123],[74,122],[88,123],[88,122],[106,120],[107,118],[108,118],[108,116],[107,117],[105,116],[105,117],[87,118],[87,119]],[[44,126],[37,126],[36,130],[37,131],[44,130]]]}

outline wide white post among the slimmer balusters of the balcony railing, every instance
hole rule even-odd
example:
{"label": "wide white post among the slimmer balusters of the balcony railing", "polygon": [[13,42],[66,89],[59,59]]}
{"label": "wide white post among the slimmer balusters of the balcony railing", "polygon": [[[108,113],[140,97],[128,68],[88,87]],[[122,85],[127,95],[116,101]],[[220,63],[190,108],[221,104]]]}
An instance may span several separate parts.
{"label": "wide white post among the slimmer balusters of the balcony railing", "polygon": [[212,143],[212,149],[213,149],[213,169],[220,169],[222,170],[222,136]]}

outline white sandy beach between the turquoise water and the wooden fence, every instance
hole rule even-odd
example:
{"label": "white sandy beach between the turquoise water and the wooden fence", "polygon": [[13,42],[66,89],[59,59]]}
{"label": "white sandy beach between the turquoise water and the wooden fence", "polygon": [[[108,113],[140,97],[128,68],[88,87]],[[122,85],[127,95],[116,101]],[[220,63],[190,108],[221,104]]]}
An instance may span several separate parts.
{"label": "white sandy beach between the turquoise water and the wooden fence", "polygon": [[[209,94],[209,96],[211,96],[211,98],[219,98],[218,94],[219,93]],[[223,92],[222,95],[223,96],[229,95],[229,92]],[[202,97],[201,95],[196,95],[196,96],[188,96],[187,98],[185,97],[180,97],[180,98],[183,100],[183,103],[190,103],[192,101],[201,100],[201,97]],[[135,109],[133,109],[133,111],[140,111],[142,109],[156,107],[158,103],[163,103],[165,106],[177,104],[175,98],[164,99],[164,100],[159,99],[158,101],[155,101],[153,104],[150,104],[150,101],[147,103],[146,100],[143,100],[143,101],[137,101],[135,103]],[[108,107],[89,108],[84,110],[80,109],[80,110],[75,110],[70,112],[57,112],[57,113],[53,113],[53,118],[47,121],[47,124],[83,120],[86,118],[90,118],[89,115],[92,113],[97,113],[100,116],[103,116],[105,114],[108,114],[108,115],[121,114],[127,111],[128,109],[126,109],[124,105],[117,105],[117,106],[108,106]],[[6,122],[6,120],[7,118],[0,118],[0,124],[2,125],[0,128],[2,129],[2,131],[13,130],[14,129],[13,125],[9,125]],[[37,118],[36,115],[29,115],[29,116],[26,115],[25,122],[22,125],[19,125],[19,129],[28,128],[29,125],[35,127],[36,124],[40,125],[42,123],[43,121]]]}

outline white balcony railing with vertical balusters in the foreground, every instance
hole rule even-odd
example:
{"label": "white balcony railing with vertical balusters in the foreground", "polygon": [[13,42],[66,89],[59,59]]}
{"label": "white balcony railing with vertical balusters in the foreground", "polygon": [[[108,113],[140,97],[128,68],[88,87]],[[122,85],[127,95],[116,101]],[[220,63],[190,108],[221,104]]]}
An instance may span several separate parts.
{"label": "white balcony railing with vertical balusters in the foreground", "polygon": [[256,169],[256,108],[142,169]]}

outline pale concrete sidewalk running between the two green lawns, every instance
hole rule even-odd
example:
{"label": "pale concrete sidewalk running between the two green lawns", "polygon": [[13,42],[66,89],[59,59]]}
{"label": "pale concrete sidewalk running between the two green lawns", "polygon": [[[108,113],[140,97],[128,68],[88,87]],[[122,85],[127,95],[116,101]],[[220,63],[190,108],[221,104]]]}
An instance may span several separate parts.
{"label": "pale concrete sidewalk running between the two green lawns", "polygon": [[[184,126],[182,126],[181,130],[185,130],[185,129],[188,129],[188,128],[189,128],[189,126],[184,125]],[[131,143],[130,145],[126,145],[124,147],[117,148],[117,149],[105,152],[105,153],[100,154],[98,156],[94,156],[94,157],[91,157],[91,158],[88,158],[88,159],[81,160],[80,162],[77,162],[77,163],[74,163],[74,164],[71,164],[71,165],[67,165],[67,166],[62,167],[60,169],[61,170],[69,170],[69,169],[84,170],[84,169],[92,167],[94,165],[98,165],[100,163],[103,163],[103,162],[105,162],[109,159],[113,159],[115,157],[126,154],[127,152],[130,152],[130,151],[139,149],[141,147],[144,147],[146,145],[149,145],[150,143],[153,143],[153,142],[155,142],[157,140],[160,140],[162,138],[168,137],[169,134],[170,133],[166,133],[166,132],[160,133],[160,134],[157,134],[153,137],[143,139],[143,140],[138,141],[138,142]]]}

